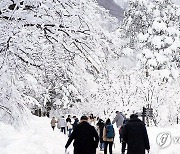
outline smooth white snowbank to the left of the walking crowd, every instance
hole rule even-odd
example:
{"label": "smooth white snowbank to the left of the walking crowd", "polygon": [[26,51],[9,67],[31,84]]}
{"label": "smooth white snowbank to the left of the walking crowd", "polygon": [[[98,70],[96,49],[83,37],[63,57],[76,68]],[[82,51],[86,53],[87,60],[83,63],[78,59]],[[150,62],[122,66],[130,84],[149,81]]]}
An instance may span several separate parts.
{"label": "smooth white snowbank to the left of the walking crowd", "polygon": [[64,154],[67,136],[53,132],[50,121],[34,116],[20,132],[0,123],[0,154]]}

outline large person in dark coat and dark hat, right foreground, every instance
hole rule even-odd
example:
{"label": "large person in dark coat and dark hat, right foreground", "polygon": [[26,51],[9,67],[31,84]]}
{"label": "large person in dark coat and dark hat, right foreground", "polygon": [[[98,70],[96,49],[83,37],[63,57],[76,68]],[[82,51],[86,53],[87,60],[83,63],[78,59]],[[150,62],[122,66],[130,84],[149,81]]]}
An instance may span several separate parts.
{"label": "large person in dark coat and dark hat, right foreground", "polygon": [[123,142],[128,145],[128,154],[145,154],[145,149],[149,153],[150,145],[145,124],[136,114],[130,116],[123,128]]}

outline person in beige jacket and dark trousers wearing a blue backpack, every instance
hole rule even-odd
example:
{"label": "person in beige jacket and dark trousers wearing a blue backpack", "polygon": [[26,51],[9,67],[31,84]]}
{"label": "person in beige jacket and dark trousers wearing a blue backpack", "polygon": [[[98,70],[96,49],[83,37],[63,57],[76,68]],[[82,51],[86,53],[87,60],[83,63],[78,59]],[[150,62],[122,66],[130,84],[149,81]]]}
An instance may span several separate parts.
{"label": "person in beige jacket and dark trousers wearing a blue backpack", "polygon": [[112,146],[114,142],[115,131],[111,120],[107,119],[103,129],[103,141],[104,141],[104,154],[107,154],[107,147],[109,145],[109,153],[112,154]]}

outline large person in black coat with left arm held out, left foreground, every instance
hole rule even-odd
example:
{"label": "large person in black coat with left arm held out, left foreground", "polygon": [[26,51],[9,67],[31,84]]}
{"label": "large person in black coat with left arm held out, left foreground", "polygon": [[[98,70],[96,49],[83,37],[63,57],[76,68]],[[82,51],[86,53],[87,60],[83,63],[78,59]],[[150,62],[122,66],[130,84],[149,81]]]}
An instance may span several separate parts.
{"label": "large person in black coat with left arm held out, left foreground", "polygon": [[96,154],[99,136],[94,126],[88,123],[87,116],[82,116],[80,123],[74,128],[65,145],[65,151],[73,140],[74,154]]}

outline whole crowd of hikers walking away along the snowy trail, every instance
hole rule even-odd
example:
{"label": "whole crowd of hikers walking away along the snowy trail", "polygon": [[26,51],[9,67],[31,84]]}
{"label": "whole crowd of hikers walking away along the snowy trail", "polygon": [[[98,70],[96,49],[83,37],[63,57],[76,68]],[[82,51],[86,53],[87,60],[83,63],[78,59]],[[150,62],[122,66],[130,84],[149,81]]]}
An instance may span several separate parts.
{"label": "whole crowd of hikers walking away along the snowy trail", "polygon": [[[116,111],[116,116],[111,122],[108,118],[106,121],[99,117],[83,115],[80,120],[71,115],[65,119],[64,116],[55,117],[51,120],[51,127],[58,129],[68,135],[68,141],[65,149],[74,141],[74,154],[96,154],[96,148],[104,151],[104,154],[113,153],[112,147],[115,138],[115,129],[113,124],[116,123],[120,144],[122,144],[120,153],[125,154],[145,154],[149,153],[150,145],[147,130],[136,114],[126,118],[123,113]],[[67,130],[67,132],[66,132]],[[66,151],[65,150],[65,151]]]}

